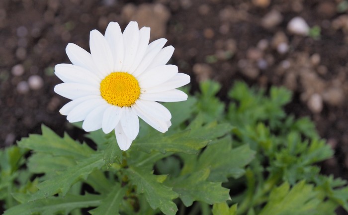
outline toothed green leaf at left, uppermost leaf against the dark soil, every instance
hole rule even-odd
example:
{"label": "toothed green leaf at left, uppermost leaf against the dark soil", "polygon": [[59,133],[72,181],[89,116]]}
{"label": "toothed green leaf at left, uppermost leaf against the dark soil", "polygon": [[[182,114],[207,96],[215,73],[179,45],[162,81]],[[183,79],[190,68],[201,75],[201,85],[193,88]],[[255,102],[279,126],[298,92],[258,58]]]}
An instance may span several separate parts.
{"label": "toothed green leaf at left, uppermost leaf against the dark soil", "polygon": [[36,152],[48,153],[54,156],[67,156],[72,158],[89,157],[94,151],[86,144],[80,144],[68,135],[63,138],[54,133],[45,125],[41,126],[42,135],[31,134],[18,142],[21,148],[32,149]]}

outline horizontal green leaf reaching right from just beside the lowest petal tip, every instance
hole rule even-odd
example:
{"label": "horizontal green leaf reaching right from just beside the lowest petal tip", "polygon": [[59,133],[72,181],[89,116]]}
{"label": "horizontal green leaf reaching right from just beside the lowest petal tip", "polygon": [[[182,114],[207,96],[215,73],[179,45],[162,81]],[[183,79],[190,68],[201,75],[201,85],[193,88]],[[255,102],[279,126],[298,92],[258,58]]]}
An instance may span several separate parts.
{"label": "horizontal green leaf reaching right from just beside the lowest petal tip", "polygon": [[190,137],[190,131],[180,131],[171,135],[151,136],[140,140],[135,140],[131,150],[141,150],[145,152],[160,151],[183,152],[187,154],[196,154],[199,149],[208,144],[208,140],[202,138]]}

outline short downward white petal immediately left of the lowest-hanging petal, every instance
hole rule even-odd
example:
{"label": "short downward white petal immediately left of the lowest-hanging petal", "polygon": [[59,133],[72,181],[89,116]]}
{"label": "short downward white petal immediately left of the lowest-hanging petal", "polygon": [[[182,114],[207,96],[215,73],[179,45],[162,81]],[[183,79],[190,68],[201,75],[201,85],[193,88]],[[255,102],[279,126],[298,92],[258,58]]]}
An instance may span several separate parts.
{"label": "short downward white petal immediately left of the lowest-hanging petal", "polygon": [[103,115],[102,129],[104,133],[110,133],[120,121],[123,109],[118,106],[110,106]]}

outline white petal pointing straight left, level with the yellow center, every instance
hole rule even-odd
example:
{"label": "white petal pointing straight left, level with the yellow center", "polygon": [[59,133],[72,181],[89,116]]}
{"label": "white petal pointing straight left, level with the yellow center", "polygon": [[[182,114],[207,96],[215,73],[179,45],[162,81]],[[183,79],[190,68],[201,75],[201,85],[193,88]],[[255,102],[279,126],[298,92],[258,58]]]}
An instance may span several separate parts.
{"label": "white petal pointing straight left, level with the yellow center", "polygon": [[54,92],[71,100],[88,95],[100,95],[100,90],[95,86],[79,83],[62,83],[56,85]]}

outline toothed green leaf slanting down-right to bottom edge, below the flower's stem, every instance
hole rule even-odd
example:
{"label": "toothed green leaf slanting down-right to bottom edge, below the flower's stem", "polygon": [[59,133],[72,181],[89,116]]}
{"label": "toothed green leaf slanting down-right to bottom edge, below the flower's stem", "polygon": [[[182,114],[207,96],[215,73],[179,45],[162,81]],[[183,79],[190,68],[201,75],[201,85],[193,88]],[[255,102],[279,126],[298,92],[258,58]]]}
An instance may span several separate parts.
{"label": "toothed green leaf slanting down-right to bottom edge, below the flower's stem", "polygon": [[178,194],[162,184],[165,180],[163,175],[156,176],[138,167],[129,167],[126,170],[130,182],[137,186],[137,194],[144,194],[153,210],[159,208],[166,215],[175,215],[177,208],[172,200],[177,198]]}

